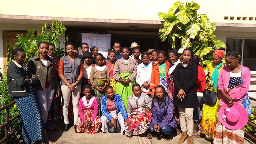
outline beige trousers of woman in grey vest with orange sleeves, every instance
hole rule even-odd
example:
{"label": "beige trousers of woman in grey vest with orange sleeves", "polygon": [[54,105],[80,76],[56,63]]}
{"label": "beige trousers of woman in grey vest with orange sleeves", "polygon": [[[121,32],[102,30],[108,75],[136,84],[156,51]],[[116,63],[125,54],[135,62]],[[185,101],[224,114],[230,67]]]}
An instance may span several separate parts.
{"label": "beige trousers of woman in grey vest with orange sleeves", "polygon": [[63,94],[62,101],[63,101],[63,117],[64,117],[64,124],[69,124],[68,120],[68,106],[69,106],[69,100],[70,96],[72,94],[72,104],[73,104],[73,113],[74,113],[74,125],[76,124],[76,120],[79,117],[78,114],[78,105],[79,105],[79,99],[80,99],[80,92],[81,92],[81,85],[76,86],[74,88],[74,92],[71,92],[68,90],[68,86],[62,85],[61,91]]}

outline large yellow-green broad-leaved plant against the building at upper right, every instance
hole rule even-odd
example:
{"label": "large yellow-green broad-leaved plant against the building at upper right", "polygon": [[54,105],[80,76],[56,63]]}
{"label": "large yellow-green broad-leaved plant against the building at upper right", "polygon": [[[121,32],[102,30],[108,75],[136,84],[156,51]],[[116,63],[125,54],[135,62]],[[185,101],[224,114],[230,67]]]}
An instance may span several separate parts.
{"label": "large yellow-green broad-leaved plant against the building at upper right", "polygon": [[[206,15],[197,15],[200,6],[191,1],[181,3],[177,1],[166,13],[159,12],[159,18],[163,21],[158,31],[161,41],[166,39],[173,49],[191,48],[198,55],[206,67],[212,62],[213,50],[226,48],[222,41],[217,41],[213,34],[216,27]],[[177,46],[178,45],[178,46]]]}

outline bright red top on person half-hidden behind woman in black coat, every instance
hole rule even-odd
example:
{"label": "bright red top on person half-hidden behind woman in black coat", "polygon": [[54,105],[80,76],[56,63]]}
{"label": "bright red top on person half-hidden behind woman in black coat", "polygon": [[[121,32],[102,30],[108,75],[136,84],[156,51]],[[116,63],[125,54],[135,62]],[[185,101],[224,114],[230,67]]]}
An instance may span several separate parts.
{"label": "bright red top on person half-hidden behind woman in black coat", "polygon": [[196,83],[196,92],[203,92],[205,89],[205,73],[202,65],[198,65],[198,78]]}

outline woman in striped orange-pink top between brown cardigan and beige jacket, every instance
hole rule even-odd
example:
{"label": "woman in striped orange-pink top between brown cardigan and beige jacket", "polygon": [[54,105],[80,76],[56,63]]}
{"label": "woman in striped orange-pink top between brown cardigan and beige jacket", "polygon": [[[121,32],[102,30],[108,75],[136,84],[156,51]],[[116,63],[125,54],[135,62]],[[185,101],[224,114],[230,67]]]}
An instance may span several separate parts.
{"label": "woman in striped orange-pink top between brown cardigan and beige jacket", "polygon": [[116,93],[116,84],[117,80],[114,79],[113,72],[114,72],[114,65],[116,60],[116,51],[113,49],[109,49],[109,55],[108,55],[109,61],[106,62],[106,66],[109,69],[109,75],[110,75],[110,82],[109,86],[112,86],[114,89],[114,93]]}

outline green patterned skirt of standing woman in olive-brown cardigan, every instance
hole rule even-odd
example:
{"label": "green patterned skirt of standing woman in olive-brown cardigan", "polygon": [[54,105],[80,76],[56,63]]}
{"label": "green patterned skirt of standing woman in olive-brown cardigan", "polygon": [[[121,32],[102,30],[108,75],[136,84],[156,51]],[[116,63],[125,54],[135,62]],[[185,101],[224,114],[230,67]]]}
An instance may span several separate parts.
{"label": "green patterned skirt of standing woman in olive-brown cardigan", "polygon": [[[107,82],[107,79],[100,79],[100,80],[94,80],[94,83],[96,84],[97,87],[103,87],[105,83]],[[99,102],[99,112],[98,115],[100,116],[101,113],[101,98],[105,96],[105,91],[98,91],[96,88],[93,88],[93,91],[95,92],[95,96],[98,98]]]}

